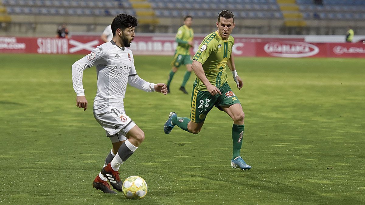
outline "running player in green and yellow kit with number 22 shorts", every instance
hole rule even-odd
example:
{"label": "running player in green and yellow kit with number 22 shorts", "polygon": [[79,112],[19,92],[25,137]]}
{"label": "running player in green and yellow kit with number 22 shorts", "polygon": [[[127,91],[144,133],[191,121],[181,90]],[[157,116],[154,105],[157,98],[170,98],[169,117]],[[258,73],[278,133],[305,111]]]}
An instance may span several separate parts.
{"label": "running player in green and yellow kit with number 22 shorts", "polygon": [[232,55],[234,39],[230,34],[235,27],[233,13],[227,10],[219,12],[216,26],[218,30],[205,36],[193,58],[192,69],[197,78],[193,85],[190,119],[177,117],[175,112],[171,112],[164,125],[164,132],[170,134],[172,128],[177,125],[185,131],[198,134],[208,112],[217,107],[233,119],[231,166],[249,170],[251,166],[247,165],[240,155],[245,113],[242,111],[241,102],[228,85],[226,73],[228,66],[237,88],[241,89],[243,82],[238,77]]}

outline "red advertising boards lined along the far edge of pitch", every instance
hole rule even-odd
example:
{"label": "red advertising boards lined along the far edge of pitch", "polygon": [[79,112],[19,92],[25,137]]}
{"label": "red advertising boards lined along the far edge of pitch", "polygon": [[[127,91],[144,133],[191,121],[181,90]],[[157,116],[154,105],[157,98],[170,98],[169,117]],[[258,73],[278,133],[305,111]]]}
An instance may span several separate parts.
{"label": "red advertising boards lined along the far edge of pitch", "polygon": [[[202,36],[194,39],[191,54],[198,49]],[[306,43],[301,39],[287,41],[270,38],[235,38],[232,52],[245,57],[282,58],[365,58],[365,44],[362,43]],[[0,37],[0,53],[39,53],[39,54],[83,54],[90,53],[102,44],[99,36],[72,36],[60,38],[18,38]],[[143,35],[135,37],[130,49],[134,55],[173,55],[177,46],[173,36]]]}

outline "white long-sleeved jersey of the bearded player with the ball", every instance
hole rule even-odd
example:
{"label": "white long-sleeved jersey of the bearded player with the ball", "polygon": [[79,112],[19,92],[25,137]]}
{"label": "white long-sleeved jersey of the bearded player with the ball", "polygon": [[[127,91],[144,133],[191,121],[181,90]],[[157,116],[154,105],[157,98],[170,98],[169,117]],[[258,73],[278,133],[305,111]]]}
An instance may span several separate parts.
{"label": "white long-sleeved jersey of the bearded player with the ball", "polygon": [[127,83],[146,92],[154,92],[155,84],[146,82],[137,75],[132,51],[117,46],[111,40],[97,46],[89,55],[72,65],[72,83],[77,96],[85,95],[82,86],[83,71],[94,65],[97,72],[94,109],[113,104],[123,108]]}

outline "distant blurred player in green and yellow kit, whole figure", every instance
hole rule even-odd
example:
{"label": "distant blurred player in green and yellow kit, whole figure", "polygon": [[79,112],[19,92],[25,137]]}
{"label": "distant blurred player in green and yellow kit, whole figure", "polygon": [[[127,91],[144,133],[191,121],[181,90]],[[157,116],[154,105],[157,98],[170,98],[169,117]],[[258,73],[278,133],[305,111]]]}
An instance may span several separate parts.
{"label": "distant blurred player in green and yellow kit, whole figure", "polygon": [[171,66],[173,67],[169,73],[169,77],[166,84],[168,92],[170,92],[170,84],[177,69],[181,65],[185,65],[186,72],[184,74],[184,79],[183,82],[181,83],[180,90],[183,91],[183,93],[188,94],[188,92],[185,90],[185,84],[186,82],[188,82],[192,71],[191,63],[193,62],[193,60],[191,59],[190,56],[190,48],[194,46],[193,42],[194,31],[191,28],[192,23],[193,23],[193,18],[191,16],[185,16],[184,26],[181,26],[177,30],[176,42],[178,43],[178,45],[175,50],[174,59],[171,62]]}

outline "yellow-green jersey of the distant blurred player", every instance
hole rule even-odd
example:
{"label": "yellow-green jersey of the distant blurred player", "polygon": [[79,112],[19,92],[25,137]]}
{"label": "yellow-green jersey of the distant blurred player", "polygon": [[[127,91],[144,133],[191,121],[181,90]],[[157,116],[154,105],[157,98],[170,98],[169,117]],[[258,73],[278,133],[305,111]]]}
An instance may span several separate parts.
{"label": "yellow-green jersey of the distant blurred player", "polygon": [[192,28],[187,26],[181,26],[177,30],[176,34],[176,42],[178,43],[176,47],[176,54],[181,55],[190,55],[190,45],[188,44],[189,41],[193,40],[194,38],[194,31]]}

